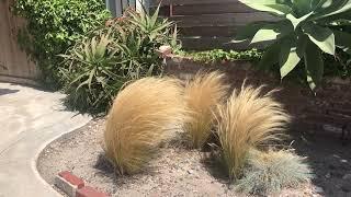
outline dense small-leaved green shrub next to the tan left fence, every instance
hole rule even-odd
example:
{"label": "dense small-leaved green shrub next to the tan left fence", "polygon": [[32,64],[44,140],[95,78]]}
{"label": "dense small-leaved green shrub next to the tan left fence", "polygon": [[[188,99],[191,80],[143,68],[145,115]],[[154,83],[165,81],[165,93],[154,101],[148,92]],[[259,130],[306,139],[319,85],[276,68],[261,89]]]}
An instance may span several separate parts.
{"label": "dense small-leaved green shrub next to the tan left fence", "polygon": [[20,45],[52,85],[57,85],[63,60],[57,55],[110,18],[101,0],[15,0],[13,11],[27,22],[19,32]]}

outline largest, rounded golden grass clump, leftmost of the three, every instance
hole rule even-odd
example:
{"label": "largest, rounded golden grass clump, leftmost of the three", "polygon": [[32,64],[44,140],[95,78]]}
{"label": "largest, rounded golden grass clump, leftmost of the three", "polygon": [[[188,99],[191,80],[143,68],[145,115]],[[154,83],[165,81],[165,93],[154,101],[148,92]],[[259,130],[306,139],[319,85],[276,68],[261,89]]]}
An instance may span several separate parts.
{"label": "largest, rounded golden grass clump, leftmost of the three", "polygon": [[180,129],[185,118],[179,80],[145,78],[114,100],[104,131],[105,154],[121,174],[140,172],[160,142]]}

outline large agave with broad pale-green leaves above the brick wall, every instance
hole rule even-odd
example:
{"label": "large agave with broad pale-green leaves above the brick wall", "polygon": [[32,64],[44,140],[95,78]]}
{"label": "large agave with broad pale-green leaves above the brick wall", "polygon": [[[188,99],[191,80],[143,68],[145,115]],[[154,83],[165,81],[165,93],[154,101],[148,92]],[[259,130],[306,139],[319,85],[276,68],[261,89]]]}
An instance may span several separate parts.
{"label": "large agave with broad pale-green leaves above the brick wall", "polygon": [[279,63],[282,79],[304,60],[307,82],[314,90],[324,74],[322,53],[335,56],[338,47],[351,54],[351,35],[338,28],[351,24],[351,0],[239,1],[280,19],[247,25],[235,42],[267,43],[261,65]]}

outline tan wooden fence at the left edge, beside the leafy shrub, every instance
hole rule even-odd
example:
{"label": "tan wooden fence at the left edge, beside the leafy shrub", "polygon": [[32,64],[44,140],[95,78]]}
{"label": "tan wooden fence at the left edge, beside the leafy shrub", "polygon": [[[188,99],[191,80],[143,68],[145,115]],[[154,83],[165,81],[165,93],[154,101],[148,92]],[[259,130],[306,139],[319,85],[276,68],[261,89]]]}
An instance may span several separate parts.
{"label": "tan wooden fence at the left edge, beside the leafy shrub", "polygon": [[38,70],[16,42],[16,32],[24,20],[12,15],[9,10],[12,2],[0,0],[0,81],[25,83],[37,79]]}

